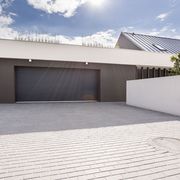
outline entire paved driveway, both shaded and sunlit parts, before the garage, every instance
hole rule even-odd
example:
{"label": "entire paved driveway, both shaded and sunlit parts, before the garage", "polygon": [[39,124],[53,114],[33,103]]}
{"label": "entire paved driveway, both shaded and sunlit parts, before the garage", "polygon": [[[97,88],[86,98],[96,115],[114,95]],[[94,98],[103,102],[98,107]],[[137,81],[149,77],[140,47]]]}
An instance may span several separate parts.
{"label": "entire paved driveway, both shaded and sunlit parts, before the garage", "polygon": [[152,143],[180,138],[179,117],[122,103],[0,105],[0,113],[0,179],[180,179],[180,150]]}

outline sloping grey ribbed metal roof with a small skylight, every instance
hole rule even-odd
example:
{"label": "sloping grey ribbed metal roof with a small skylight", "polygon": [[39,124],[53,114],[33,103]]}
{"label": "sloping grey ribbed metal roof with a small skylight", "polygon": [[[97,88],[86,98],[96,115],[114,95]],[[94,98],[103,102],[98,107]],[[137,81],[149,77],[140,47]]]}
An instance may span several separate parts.
{"label": "sloping grey ribbed metal roof with a small skylight", "polygon": [[144,34],[122,32],[131,42],[144,51],[171,53],[180,52],[180,39],[157,37]]}

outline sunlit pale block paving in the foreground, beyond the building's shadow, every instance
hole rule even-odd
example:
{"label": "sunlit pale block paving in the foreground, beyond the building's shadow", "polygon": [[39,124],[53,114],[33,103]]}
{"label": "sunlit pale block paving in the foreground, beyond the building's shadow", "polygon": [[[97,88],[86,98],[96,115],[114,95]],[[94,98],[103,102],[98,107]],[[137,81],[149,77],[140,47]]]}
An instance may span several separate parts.
{"label": "sunlit pale block paving in the foreground, beyond the building's shadow", "polygon": [[180,154],[150,143],[180,138],[179,129],[179,121],[164,121],[0,135],[0,179],[180,179]]}

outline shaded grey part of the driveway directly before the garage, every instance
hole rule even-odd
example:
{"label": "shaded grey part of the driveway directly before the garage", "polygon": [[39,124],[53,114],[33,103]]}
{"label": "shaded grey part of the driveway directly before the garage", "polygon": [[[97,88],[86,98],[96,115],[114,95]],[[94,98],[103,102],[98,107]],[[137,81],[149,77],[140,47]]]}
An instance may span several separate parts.
{"label": "shaded grey part of the driveway directly before the garage", "polygon": [[180,117],[125,103],[1,104],[0,134],[60,131],[172,121]]}

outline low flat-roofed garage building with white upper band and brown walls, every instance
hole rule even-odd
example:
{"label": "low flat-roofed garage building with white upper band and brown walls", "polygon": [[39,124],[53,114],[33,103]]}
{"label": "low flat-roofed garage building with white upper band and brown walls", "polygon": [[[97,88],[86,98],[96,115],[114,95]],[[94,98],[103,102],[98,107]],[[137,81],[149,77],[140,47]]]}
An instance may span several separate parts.
{"label": "low flat-roofed garage building with white upper band and brown walls", "polygon": [[125,101],[127,80],[168,74],[174,52],[123,49],[122,35],[121,49],[1,39],[0,103]]}

